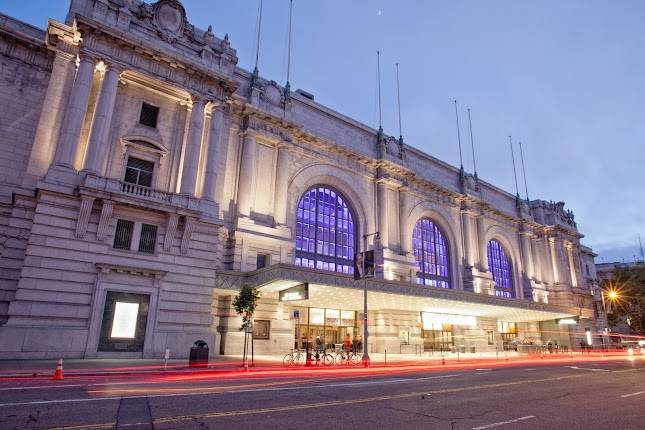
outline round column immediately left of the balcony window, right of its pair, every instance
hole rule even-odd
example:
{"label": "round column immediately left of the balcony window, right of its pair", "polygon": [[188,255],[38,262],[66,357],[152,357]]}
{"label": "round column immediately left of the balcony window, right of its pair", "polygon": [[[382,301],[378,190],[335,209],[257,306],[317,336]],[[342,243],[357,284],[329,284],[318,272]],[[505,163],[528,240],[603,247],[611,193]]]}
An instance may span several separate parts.
{"label": "round column immediately left of the balcony window, right of its pair", "polygon": [[83,170],[94,173],[95,175],[103,174],[105,156],[109,148],[108,137],[110,134],[110,126],[112,125],[112,113],[114,112],[114,101],[116,100],[116,91],[119,85],[120,75],[121,70],[118,67],[110,65],[101,83],[101,91],[96,104],[96,111],[94,112],[90,142],[83,168]]}

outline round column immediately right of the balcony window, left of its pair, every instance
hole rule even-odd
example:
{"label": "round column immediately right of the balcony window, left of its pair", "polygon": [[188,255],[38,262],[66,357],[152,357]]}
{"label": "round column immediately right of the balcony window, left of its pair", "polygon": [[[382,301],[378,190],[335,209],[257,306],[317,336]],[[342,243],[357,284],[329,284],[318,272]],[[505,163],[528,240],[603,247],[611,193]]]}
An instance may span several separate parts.
{"label": "round column immediately right of the balcony window, left of its pair", "polygon": [[199,170],[199,154],[202,145],[202,132],[204,131],[204,106],[206,100],[193,96],[193,110],[190,114],[188,126],[188,140],[186,142],[186,155],[181,174],[180,192],[195,195],[197,186],[197,173]]}

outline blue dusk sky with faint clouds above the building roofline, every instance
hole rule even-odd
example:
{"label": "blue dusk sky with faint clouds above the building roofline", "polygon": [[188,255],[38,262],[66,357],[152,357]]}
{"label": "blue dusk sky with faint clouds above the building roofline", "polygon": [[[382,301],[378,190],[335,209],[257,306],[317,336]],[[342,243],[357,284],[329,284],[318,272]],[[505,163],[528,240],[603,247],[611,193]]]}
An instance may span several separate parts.
{"label": "blue dusk sky with faint clouds above the building roofline", "polygon": [[[0,0],[45,28],[67,0]],[[191,23],[229,34],[252,69],[258,0],[185,0]],[[294,0],[291,85],[459,166],[472,110],[478,173],[514,192],[508,136],[522,141],[531,199],[563,200],[597,262],[638,257],[645,239],[645,2],[642,0]],[[286,80],[288,0],[264,0],[259,69]],[[468,147],[466,146],[465,149]],[[472,157],[464,150],[472,172]],[[523,187],[521,187],[523,189]],[[522,192],[523,194],[523,192]]]}

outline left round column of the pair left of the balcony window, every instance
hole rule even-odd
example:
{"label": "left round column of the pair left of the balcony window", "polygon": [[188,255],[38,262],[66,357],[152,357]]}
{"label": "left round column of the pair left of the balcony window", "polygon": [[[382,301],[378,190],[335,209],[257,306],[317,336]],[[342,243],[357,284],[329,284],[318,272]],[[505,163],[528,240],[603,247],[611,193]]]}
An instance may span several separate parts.
{"label": "left round column of the pair left of the balcony window", "polygon": [[54,164],[57,166],[74,168],[74,158],[81,137],[83,120],[87,113],[87,103],[92,89],[94,75],[94,59],[83,56],[76,72],[76,78],[69,95],[69,103],[63,117],[61,134],[56,147]]}

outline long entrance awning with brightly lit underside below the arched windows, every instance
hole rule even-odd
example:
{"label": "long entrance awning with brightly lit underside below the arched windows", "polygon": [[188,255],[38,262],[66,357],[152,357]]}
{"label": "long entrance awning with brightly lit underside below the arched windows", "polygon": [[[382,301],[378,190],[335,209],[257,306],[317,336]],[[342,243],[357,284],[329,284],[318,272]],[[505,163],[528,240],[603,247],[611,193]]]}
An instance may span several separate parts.
{"label": "long entrance awning with brightly lit underside below the arched windows", "polygon": [[591,318],[587,309],[554,306],[528,300],[425,287],[382,279],[355,281],[350,275],[277,264],[254,272],[218,272],[217,288],[238,289],[243,283],[259,287],[265,297],[278,298],[278,292],[309,283],[309,299],[291,301],[294,305],[362,310],[363,287],[367,282],[369,310],[392,309],[443,314],[470,315],[504,321],[547,321],[581,316]]}

